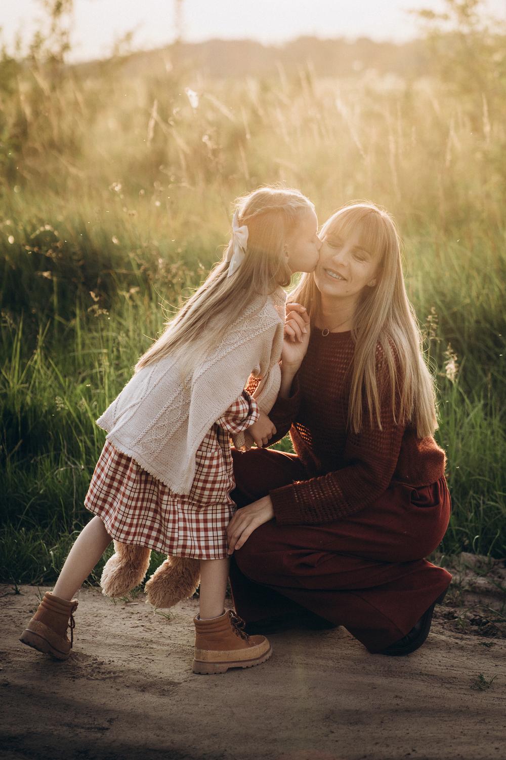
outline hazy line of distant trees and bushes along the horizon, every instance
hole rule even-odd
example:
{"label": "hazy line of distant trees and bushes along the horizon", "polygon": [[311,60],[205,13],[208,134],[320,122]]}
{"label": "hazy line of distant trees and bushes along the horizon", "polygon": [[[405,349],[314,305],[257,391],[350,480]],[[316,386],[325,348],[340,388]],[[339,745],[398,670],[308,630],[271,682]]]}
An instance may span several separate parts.
{"label": "hazy line of distant trees and bushes along the horizon", "polygon": [[20,46],[14,52],[5,44],[0,49],[0,176],[11,184],[23,182],[27,167],[41,154],[51,166],[55,156],[79,153],[85,132],[68,118],[69,109],[78,118],[86,112],[86,119],[93,119],[93,88],[114,87],[118,76],[168,76],[168,85],[177,90],[189,71],[236,79],[290,78],[302,69],[318,78],[354,78],[374,71],[404,80],[437,79],[485,129],[492,115],[504,111],[504,24],[486,18],[481,0],[445,0],[440,13],[413,11],[423,39],[402,45],[312,37],[281,47],[247,40],[178,40],[162,51],[125,55],[131,43],[127,35],[110,59],[80,65],[67,63],[73,0],[40,2],[46,24],[34,34],[28,53],[22,56]]}

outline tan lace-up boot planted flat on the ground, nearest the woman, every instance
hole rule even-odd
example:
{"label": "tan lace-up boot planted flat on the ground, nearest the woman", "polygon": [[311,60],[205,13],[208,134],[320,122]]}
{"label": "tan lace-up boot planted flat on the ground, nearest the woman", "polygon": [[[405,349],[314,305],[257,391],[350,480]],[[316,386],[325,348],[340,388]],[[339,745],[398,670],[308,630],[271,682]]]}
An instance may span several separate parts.
{"label": "tan lace-up boot planted flat on the ground, nearest the woman", "polygon": [[248,636],[244,620],[233,610],[195,623],[193,673],[225,673],[229,667],[253,667],[269,660],[272,648],[265,636]]}

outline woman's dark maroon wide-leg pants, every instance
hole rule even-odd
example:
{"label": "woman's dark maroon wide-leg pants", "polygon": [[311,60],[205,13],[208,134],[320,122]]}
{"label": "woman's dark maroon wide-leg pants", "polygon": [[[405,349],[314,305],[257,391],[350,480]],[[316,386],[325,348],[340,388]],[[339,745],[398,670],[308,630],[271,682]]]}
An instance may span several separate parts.
{"label": "woman's dark maroon wide-leg pants", "polygon": [[[232,451],[238,507],[308,475],[294,454]],[[370,652],[407,634],[450,584],[424,559],[441,542],[451,502],[445,478],[413,488],[393,483],[368,508],[317,525],[257,528],[231,562],[237,613],[247,622],[300,606],[344,627]]]}

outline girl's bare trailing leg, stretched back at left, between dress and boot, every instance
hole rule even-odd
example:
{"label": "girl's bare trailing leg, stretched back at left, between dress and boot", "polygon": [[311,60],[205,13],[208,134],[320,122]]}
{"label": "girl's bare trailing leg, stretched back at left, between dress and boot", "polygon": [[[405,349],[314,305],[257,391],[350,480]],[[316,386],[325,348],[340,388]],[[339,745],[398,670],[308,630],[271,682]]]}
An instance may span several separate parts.
{"label": "girl's bare trailing leg, stretched back at left, between dress and boot", "polygon": [[112,538],[105,530],[105,525],[96,515],[86,527],[83,527],[74,546],[68,553],[58,581],[52,590],[55,597],[73,599],[76,591],[80,589],[83,581],[90,575],[111,541]]}

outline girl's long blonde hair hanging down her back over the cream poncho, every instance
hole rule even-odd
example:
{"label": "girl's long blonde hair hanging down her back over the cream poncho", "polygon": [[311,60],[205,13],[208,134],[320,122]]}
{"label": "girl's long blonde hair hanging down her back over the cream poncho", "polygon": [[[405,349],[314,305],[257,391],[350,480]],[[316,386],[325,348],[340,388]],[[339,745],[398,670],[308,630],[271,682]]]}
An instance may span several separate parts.
{"label": "girl's long blonde hair hanging down her back over the cream poncho", "polygon": [[248,228],[244,261],[231,277],[227,276],[231,239],[222,261],[215,264],[205,282],[140,357],[136,372],[169,353],[180,360],[184,353],[184,371],[189,371],[200,356],[220,343],[256,296],[267,298],[276,287],[290,283],[285,244],[301,214],[314,209],[309,198],[298,190],[267,186],[237,198],[234,205],[238,225]]}

